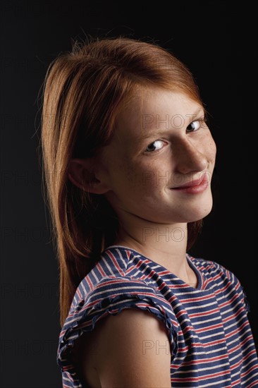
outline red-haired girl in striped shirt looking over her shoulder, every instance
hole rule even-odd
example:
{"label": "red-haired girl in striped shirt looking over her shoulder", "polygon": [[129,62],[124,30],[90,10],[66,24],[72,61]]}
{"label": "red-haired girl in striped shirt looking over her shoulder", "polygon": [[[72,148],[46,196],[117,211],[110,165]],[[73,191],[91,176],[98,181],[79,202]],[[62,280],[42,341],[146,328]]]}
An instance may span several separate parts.
{"label": "red-haired girl in striped shirt looking over her shoulder", "polygon": [[43,97],[63,387],[258,387],[240,282],[187,253],[216,156],[188,68],[154,43],[75,43]]}

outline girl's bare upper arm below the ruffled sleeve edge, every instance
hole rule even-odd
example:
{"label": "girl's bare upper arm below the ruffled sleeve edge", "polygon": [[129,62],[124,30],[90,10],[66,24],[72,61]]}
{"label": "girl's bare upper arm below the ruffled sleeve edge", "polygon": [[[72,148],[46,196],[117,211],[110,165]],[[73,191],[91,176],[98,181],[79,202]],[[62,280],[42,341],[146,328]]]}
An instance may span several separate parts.
{"label": "girl's bare upper arm below the ruffled sleeve edge", "polygon": [[99,324],[92,332],[90,360],[103,388],[171,388],[170,346],[161,321],[147,311],[126,309]]}

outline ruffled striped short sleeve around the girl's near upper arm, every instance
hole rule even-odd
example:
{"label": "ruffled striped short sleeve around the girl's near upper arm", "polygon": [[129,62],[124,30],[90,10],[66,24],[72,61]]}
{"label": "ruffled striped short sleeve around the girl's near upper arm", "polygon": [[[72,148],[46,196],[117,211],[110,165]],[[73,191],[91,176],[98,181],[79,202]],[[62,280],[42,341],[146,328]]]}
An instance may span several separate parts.
{"label": "ruffled striped short sleeve around the girl's near upper arm", "polygon": [[[171,346],[176,352],[176,328],[171,319],[171,305],[152,284],[131,277],[104,277],[90,292],[80,284],[59,337],[57,363],[63,387],[83,388],[70,355],[74,341],[83,332],[92,332],[96,323],[107,315],[117,315],[125,308],[147,310],[164,323]],[[80,295],[80,298],[78,298]],[[76,303],[75,303],[76,301]]]}

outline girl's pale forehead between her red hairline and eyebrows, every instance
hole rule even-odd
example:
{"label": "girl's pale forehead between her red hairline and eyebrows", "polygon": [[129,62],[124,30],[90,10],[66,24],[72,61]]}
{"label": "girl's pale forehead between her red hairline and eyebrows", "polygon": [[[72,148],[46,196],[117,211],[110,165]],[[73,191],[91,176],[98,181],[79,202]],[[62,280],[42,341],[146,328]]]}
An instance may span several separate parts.
{"label": "girl's pale forehead between her red hairline and eyebrows", "polygon": [[116,123],[119,136],[147,135],[152,129],[168,129],[180,121],[192,121],[193,116],[203,111],[199,102],[179,91],[153,87],[138,90],[121,109]]}

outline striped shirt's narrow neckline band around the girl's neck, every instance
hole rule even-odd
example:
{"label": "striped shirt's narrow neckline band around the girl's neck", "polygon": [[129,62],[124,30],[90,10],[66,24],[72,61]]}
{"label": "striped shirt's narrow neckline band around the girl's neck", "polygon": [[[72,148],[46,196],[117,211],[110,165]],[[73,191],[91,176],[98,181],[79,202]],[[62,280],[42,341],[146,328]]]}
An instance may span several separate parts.
{"label": "striped shirt's narrow neckline band around the girl's neck", "polygon": [[186,253],[186,260],[188,260],[188,264],[190,265],[191,269],[195,272],[195,275],[197,277],[197,286],[196,287],[191,286],[191,284],[185,283],[185,281],[183,281],[178,276],[176,276],[176,274],[173,274],[173,272],[171,272],[169,269],[167,269],[163,265],[159,264],[159,262],[156,262],[155,260],[151,259],[150,257],[147,257],[147,256],[143,255],[142,253],[138,252],[137,250],[135,250],[133,248],[130,248],[130,247],[125,246],[125,245],[109,245],[107,248],[104,249],[104,251],[105,250],[109,250],[110,248],[123,248],[123,249],[130,250],[133,253],[136,253],[137,255],[140,255],[140,256],[144,257],[145,259],[151,261],[155,265],[158,265],[161,268],[160,272],[168,271],[170,275],[172,275],[175,279],[178,279],[178,281],[180,281],[180,284],[184,284],[185,286],[188,286],[188,287],[190,287],[190,288],[192,288],[194,290],[201,290],[202,287],[203,287],[204,281],[203,281],[203,278],[202,278],[202,274],[199,272],[199,269],[197,269],[197,267],[195,267],[194,263],[191,260],[192,256],[189,255],[188,253]]}

